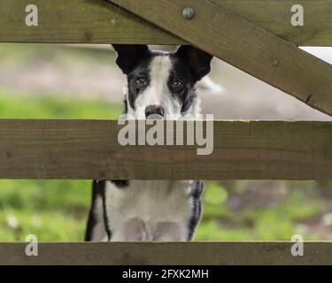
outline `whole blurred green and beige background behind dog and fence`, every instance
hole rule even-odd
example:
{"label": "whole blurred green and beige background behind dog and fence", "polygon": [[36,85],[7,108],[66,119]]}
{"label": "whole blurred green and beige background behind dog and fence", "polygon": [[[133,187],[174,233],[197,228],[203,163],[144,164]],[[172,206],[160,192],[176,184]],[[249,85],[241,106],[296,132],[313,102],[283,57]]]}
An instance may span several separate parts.
{"label": "whole blurred green and beige background behind dog and fence", "polygon": [[[172,50],[174,47],[152,47]],[[332,64],[332,48],[305,48]],[[0,44],[1,119],[118,119],[126,78],[110,46]],[[331,120],[214,59],[198,92],[218,119]],[[214,85],[213,82],[217,85]],[[206,182],[197,241],[332,240],[332,182]],[[0,180],[0,241],[83,241],[89,180]]]}

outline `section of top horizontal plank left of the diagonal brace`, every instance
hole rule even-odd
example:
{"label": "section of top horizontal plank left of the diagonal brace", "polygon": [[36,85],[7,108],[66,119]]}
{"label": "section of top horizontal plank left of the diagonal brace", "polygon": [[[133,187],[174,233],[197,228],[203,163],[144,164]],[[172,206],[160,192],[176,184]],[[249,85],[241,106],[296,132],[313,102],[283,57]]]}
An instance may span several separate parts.
{"label": "section of top horizontal plank left of the diagonal brace", "polygon": [[104,0],[34,0],[39,26],[27,27],[29,0],[0,1],[0,42],[146,43],[182,42]]}

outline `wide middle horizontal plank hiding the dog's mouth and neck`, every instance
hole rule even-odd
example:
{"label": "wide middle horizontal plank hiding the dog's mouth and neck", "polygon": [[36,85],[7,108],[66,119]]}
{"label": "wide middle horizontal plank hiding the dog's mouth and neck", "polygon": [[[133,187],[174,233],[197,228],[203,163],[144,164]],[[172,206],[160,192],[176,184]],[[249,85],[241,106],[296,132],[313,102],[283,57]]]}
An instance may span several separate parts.
{"label": "wide middle horizontal plank hiding the dog's mouth and neck", "polygon": [[332,180],[332,122],[214,121],[195,146],[120,146],[117,121],[0,120],[0,178]]}

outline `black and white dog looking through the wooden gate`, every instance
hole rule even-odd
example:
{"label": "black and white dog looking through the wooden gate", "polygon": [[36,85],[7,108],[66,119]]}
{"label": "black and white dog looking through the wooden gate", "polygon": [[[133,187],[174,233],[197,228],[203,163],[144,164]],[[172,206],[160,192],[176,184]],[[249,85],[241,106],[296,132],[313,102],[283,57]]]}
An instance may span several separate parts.
{"label": "black and white dog looking through the wooden gate", "polygon": [[[142,119],[200,112],[195,85],[212,56],[191,46],[174,53],[146,45],[113,45],[127,75],[125,109]],[[203,182],[102,180],[93,182],[86,241],[190,241],[201,216]]]}

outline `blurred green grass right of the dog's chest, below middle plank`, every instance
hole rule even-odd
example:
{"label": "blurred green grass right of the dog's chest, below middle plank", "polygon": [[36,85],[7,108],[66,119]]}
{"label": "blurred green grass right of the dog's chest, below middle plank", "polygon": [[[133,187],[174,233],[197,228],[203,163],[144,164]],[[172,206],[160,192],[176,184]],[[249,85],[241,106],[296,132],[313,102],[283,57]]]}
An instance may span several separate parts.
{"label": "blurred green grass right of the dog's chest, below middle plank", "polygon": [[[308,241],[330,240],[328,235],[321,237],[302,228],[306,223],[319,223],[320,215],[328,209],[329,202],[317,195],[313,182],[283,182],[283,185],[287,187],[287,195],[281,203],[266,205],[262,201],[258,206],[247,203],[242,209],[231,210],[227,189],[208,182],[204,218],[197,231],[197,240],[290,241],[297,233]],[[243,193],[238,195],[245,198]]]}

